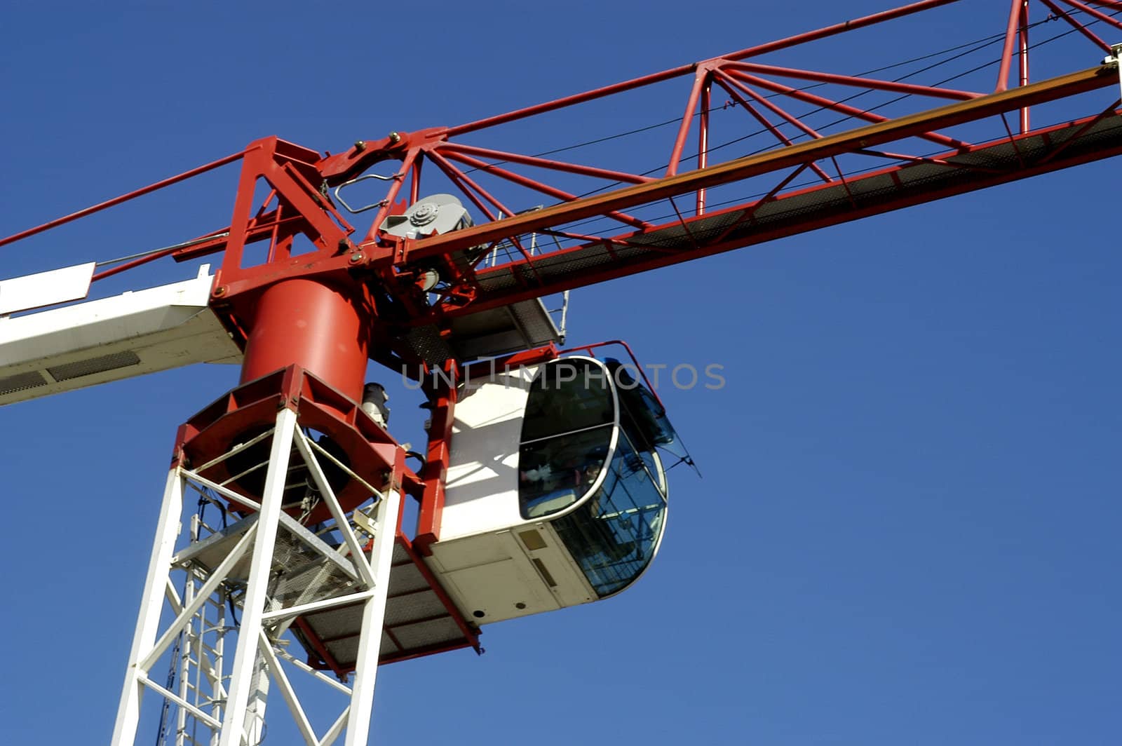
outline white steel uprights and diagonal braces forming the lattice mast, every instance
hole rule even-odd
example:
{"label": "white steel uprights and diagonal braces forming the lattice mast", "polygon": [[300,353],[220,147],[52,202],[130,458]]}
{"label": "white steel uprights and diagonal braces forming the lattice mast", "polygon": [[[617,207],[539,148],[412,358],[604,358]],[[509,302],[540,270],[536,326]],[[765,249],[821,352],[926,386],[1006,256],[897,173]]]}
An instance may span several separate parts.
{"label": "white steel uprights and diagonal braces forming the lattice mast", "polygon": [[[402,496],[396,490],[386,495],[371,490],[377,501],[373,506],[369,525],[374,532],[374,549],[368,555],[364,542],[351,528],[348,514],[328,483],[319,460],[322,449],[301,433],[296,413],[282,409],[272,434],[268,470],[260,496],[238,495],[183,467],[173,469],[168,475],[114,725],[113,746],[136,742],[140,699],[146,690],[149,696],[162,698],[164,707],[175,709],[169,722],[175,728],[174,742],[177,746],[252,746],[265,733],[265,710],[270,689],[276,689],[284,698],[305,744],[329,746],[342,740],[340,736],[344,734],[347,746],[364,746],[367,743]],[[350,577],[357,574],[358,588],[331,598],[305,601],[315,598],[312,595],[315,581],[312,580],[309,588],[295,598],[286,597],[287,607],[276,608],[277,601],[269,598],[269,584],[277,532],[282,525],[288,525],[293,535],[304,533],[283,512],[285,482],[294,446],[327,503],[334,527],[342,535],[338,551],[349,554],[353,562],[355,574]],[[242,506],[256,507],[257,519],[248,527],[236,529],[245,531],[240,536],[206,527],[201,515],[191,516],[187,522],[183,515],[183,501],[188,489],[204,496],[203,490],[214,490]],[[254,499],[258,497],[260,503]],[[177,554],[176,543],[188,523],[190,533],[183,538],[190,540],[191,546]],[[220,543],[214,544],[212,540]],[[208,541],[212,542],[209,546],[221,547],[221,554],[215,555],[213,549],[204,550],[209,554],[193,551],[196,543]],[[306,541],[312,538],[309,536]],[[307,547],[319,553],[327,552],[328,559],[335,558],[335,550],[328,551],[329,547],[319,545],[319,542],[309,543]],[[208,558],[205,562],[201,556]],[[338,562],[338,559],[331,561]],[[347,572],[351,571],[348,569]],[[173,574],[180,579],[178,583],[173,582]],[[180,586],[182,596],[176,591]],[[240,621],[227,614],[228,606],[233,614],[231,596],[239,599]],[[293,619],[356,604],[362,605],[362,623],[351,687],[332,680],[285,650],[288,641],[282,637]],[[162,619],[162,614],[169,620]],[[167,685],[158,684],[150,676],[150,671],[159,661],[167,660],[172,644],[181,636],[183,650],[171,662],[180,680],[175,685],[171,681]],[[282,667],[282,658],[289,661],[294,667]],[[342,712],[337,711],[338,717],[322,737],[316,737],[319,728],[313,727],[310,718],[313,712],[301,701],[300,687],[296,685],[300,682],[289,674],[306,675],[306,681],[325,682],[343,694]]]}

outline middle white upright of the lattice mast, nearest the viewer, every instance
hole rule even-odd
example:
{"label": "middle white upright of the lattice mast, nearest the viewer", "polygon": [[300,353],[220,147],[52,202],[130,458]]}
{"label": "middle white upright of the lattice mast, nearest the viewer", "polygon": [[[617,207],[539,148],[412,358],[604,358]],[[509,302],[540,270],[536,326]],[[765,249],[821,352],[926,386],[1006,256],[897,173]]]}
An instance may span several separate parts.
{"label": "middle white upright of the lattice mast, nearest the viewer", "polygon": [[254,555],[249,565],[249,582],[242,599],[238,646],[233,653],[229,699],[226,712],[222,713],[219,746],[240,746],[242,742],[249,698],[254,693],[257,637],[261,632],[261,615],[265,613],[269,571],[273,567],[273,546],[276,543],[277,523],[284,503],[285,478],[288,475],[288,457],[292,452],[295,427],[296,413],[288,408],[280,409],[269,452],[260,518],[257,523]]}

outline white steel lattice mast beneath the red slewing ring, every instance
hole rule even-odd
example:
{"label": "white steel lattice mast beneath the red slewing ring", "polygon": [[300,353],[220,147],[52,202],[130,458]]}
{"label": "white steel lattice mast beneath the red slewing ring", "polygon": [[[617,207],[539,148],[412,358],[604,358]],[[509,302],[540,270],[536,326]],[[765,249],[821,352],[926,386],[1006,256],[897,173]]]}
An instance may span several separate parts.
{"label": "white steel lattice mast beneath the red slewing ring", "polygon": [[[201,476],[264,441],[270,441],[268,460],[252,467],[266,470],[261,495],[237,491],[236,477],[220,483]],[[401,495],[375,491],[373,501],[347,513],[328,482],[322,458],[330,455],[303,432],[296,412],[282,408],[273,430],[199,468],[173,467],[114,746],[135,743],[146,692],[157,698],[164,731],[176,746],[254,746],[264,737],[270,689],[284,699],[305,744],[325,746],[344,733],[348,746],[367,743]],[[331,513],[315,533],[286,513],[292,506],[282,505],[286,476],[297,459],[306,466],[311,492]],[[350,477],[357,478],[353,472]],[[212,527],[200,514],[188,515],[185,507],[195,501],[219,507],[227,525]],[[228,515],[231,503],[252,513]],[[347,685],[289,652],[293,641],[286,633],[301,615],[355,605],[361,605],[362,620],[355,674]],[[164,683],[159,672],[168,665],[176,675]],[[168,685],[172,679],[176,683]],[[312,682],[344,700],[339,716],[319,728],[301,699]]]}

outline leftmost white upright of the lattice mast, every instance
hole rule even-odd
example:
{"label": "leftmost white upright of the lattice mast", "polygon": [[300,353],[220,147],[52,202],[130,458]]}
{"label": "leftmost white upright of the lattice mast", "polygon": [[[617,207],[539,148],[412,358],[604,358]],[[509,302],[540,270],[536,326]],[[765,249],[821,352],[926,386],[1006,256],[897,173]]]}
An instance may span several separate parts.
{"label": "leftmost white upright of the lattice mast", "polygon": [[137,627],[132,635],[132,648],[129,652],[129,665],[125,674],[125,689],[117,708],[117,722],[113,725],[113,746],[131,744],[136,739],[137,724],[140,721],[140,698],[144,693],[141,681],[146,672],[140,669],[140,661],[147,657],[156,633],[159,629],[159,616],[164,609],[164,589],[167,584],[167,571],[175,553],[175,541],[180,535],[180,518],[183,514],[183,480],[178,468],[167,475],[164,488],[164,501],[159,509],[159,523],[156,527],[156,541],[148,561],[148,575],[144,583],[144,596],[140,600],[140,613],[137,616]]}

